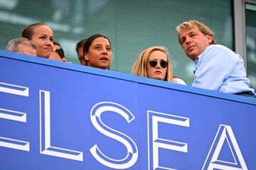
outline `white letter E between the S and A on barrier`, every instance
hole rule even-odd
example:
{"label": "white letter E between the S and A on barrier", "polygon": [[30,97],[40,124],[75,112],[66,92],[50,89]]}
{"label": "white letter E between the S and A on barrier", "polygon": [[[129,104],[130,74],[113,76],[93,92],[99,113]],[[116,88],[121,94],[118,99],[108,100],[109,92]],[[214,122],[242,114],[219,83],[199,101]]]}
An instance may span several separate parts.
{"label": "white letter E between the S and A on barrier", "polygon": [[[159,123],[169,123],[189,127],[189,118],[148,111],[148,162],[149,169],[171,169],[159,166],[159,148],[188,152],[188,144],[173,140],[166,140],[159,137]],[[153,147],[153,149],[151,148]],[[152,163],[151,163],[152,162]],[[152,166],[153,164],[153,166]]]}

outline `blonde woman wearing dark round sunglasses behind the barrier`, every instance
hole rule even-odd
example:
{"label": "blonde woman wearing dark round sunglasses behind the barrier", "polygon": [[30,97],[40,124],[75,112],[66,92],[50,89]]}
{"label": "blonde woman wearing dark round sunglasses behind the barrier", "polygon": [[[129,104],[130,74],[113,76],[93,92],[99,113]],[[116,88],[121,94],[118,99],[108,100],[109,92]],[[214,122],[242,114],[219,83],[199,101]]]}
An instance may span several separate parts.
{"label": "blonde woman wearing dark round sunglasses behind the barrier", "polygon": [[172,82],[173,72],[167,48],[154,46],[144,50],[134,63],[132,74]]}

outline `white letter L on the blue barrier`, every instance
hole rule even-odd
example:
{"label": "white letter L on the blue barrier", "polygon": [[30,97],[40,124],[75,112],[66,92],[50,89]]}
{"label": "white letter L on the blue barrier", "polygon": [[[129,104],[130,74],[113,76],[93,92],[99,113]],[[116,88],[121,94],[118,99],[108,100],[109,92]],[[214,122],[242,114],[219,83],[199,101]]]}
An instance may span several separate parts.
{"label": "white letter L on the blue barrier", "polygon": [[40,153],[82,162],[82,152],[50,145],[50,91],[40,91]]}

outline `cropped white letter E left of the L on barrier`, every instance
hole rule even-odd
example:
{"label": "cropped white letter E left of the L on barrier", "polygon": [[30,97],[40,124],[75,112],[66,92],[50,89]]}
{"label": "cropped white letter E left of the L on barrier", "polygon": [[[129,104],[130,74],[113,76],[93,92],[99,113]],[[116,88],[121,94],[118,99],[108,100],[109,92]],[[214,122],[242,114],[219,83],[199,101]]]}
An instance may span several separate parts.
{"label": "cropped white letter E left of the L on barrier", "polygon": [[[28,87],[0,82],[0,92],[28,97]],[[26,113],[0,108],[0,118],[26,123]],[[29,152],[29,142],[0,137],[0,147],[9,147]]]}

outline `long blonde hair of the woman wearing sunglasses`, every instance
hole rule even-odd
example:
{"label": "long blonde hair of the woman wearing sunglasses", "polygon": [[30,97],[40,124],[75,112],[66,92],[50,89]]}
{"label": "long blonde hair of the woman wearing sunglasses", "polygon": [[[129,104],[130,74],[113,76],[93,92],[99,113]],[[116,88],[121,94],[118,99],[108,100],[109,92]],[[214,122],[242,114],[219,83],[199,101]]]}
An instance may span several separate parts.
{"label": "long blonde hair of the woman wearing sunglasses", "polygon": [[168,66],[166,69],[166,77],[164,78],[164,81],[171,82],[173,79],[173,72],[172,72],[172,68],[171,68],[171,60],[169,59],[169,51],[166,47],[162,47],[162,46],[154,46],[154,47],[146,48],[146,50],[144,50],[139,55],[136,62],[134,62],[132,74],[141,76],[141,77],[148,77],[147,73],[146,73],[147,72],[146,64],[149,60],[149,55],[151,54],[151,52],[154,52],[156,50],[159,50],[161,52],[164,52],[164,54],[166,54]]}

